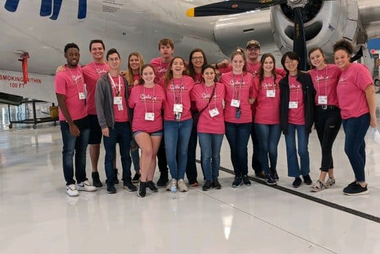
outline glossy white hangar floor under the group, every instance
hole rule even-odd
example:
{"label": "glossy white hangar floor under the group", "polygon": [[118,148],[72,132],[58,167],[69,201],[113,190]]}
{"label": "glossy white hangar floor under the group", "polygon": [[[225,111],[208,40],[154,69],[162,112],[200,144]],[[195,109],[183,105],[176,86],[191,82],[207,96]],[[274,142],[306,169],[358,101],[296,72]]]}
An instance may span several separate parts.
{"label": "glossy white hangar floor under the group", "polygon": [[[8,108],[0,106],[0,111],[0,253],[380,252],[380,145],[368,142],[366,148],[370,194],[344,196],[342,188],[353,174],[343,151],[343,130],[334,147],[337,184],[319,193],[310,193],[305,185],[296,189],[306,198],[255,181],[250,187],[232,188],[233,175],[222,171],[222,189],[202,192],[191,187],[176,200],[165,189],[138,198],[120,185],[114,195],[103,187],[70,198],[65,194],[59,126],[41,124],[34,130],[16,124],[9,129]],[[23,107],[12,107],[13,117],[23,113]],[[278,152],[279,185],[293,190],[293,179],[286,176],[283,137]],[[315,131],[309,152],[316,180],[321,156]],[[99,163],[104,181],[103,158],[104,151]],[[87,176],[89,165],[87,159]],[[221,165],[232,169],[226,140]],[[198,169],[201,175],[199,164]],[[198,181],[202,184],[199,176]],[[366,214],[363,218],[350,209]]]}

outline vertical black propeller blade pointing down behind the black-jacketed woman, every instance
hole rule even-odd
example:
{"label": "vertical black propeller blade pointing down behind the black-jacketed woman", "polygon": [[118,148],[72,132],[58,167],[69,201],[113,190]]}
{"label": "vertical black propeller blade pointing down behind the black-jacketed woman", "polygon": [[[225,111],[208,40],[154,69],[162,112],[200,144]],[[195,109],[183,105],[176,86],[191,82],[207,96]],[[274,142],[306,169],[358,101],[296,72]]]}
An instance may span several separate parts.
{"label": "vertical black propeller blade pointing down behind the black-jacketed woman", "polygon": [[304,21],[302,19],[302,8],[294,8],[294,34],[293,34],[293,51],[301,58],[299,69],[302,71],[308,70],[306,39],[304,31]]}

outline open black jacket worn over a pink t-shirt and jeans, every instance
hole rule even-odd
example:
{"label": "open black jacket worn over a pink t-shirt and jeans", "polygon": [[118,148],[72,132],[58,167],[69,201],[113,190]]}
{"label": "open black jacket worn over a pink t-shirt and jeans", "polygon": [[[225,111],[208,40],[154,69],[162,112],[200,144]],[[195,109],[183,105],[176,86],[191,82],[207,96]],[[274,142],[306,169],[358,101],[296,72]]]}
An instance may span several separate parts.
{"label": "open black jacket worn over a pink t-shirt and jeans", "polygon": [[[281,127],[281,130],[285,135],[288,134],[288,111],[290,95],[288,75],[289,74],[287,73],[286,76],[279,81],[279,126]],[[316,91],[314,89],[313,80],[311,79],[308,73],[298,71],[297,81],[302,84],[302,95],[304,97],[305,106],[305,128],[306,133],[310,133],[314,123],[314,100]]]}

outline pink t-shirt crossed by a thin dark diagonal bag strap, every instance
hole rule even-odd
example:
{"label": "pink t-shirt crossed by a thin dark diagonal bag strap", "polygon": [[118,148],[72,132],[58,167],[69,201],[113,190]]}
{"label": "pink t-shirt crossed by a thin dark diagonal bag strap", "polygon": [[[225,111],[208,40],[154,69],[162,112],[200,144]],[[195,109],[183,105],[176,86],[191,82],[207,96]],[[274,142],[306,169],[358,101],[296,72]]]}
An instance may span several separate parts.
{"label": "pink t-shirt crossed by a thin dark diagonal bag strap", "polygon": [[[215,93],[209,103],[213,88],[214,86],[206,86],[204,83],[201,83],[194,86],[193,90],[191,90],[191,100],[196,102],[198,111],[206,107],[199,116],[197,131],[224,134],[223,100],[226,92],[224,84],[215,83]],[[214,108],[218,109],[219,114],[211,117],[210,111],[213,111]]]}

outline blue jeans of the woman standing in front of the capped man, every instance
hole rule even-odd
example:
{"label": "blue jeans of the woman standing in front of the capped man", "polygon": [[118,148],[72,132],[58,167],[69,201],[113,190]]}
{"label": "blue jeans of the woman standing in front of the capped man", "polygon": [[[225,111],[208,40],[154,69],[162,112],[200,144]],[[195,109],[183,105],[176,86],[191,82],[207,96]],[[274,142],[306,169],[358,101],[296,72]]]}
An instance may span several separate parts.
{"label": "blue jeans of the woman standing in front of the capped man", "polygon": [[251,135],[252,123],[233,124],[224,122],[226,127],[226,138],[231,149],[231,162],[235,176],[248,174],[248,152],[247,146],[249,135]]}

